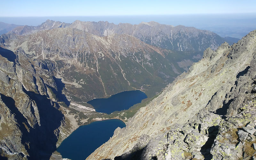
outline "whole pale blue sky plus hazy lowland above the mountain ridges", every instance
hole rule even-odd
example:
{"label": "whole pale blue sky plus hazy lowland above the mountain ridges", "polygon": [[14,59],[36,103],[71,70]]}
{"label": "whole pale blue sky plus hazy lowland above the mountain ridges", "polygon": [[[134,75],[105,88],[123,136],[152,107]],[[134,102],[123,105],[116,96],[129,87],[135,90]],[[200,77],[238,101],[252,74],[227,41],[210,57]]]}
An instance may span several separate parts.
{"label": "whole pale blue sky plus hazy lowland above the mountain ridges", "polygon": [[255,0],[12,0],[3,1],[1,5],[0,21],[17,25],[38,26],[47,19],[65,23],[81,20],[114,24],[156,21],[236,38],[256,29]]}

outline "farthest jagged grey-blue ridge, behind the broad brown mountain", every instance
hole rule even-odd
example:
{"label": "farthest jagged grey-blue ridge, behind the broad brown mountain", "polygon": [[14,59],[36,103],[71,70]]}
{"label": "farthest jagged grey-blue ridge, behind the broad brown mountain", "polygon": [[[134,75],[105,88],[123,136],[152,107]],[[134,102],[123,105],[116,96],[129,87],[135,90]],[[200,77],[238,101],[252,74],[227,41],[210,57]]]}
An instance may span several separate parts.
{"label": "farthest jagged grey-blue ridge, behind the broad brown mountain", "polygon": [[142,22],[138,25],[129,23],[109,23],[108,21],[84,22],[76,20],[73,23],[47,20],[39,26],[20,26],[9,33],[29,35],[40,30],[53,28],[76,28],[96,36],[126,34],[134,36],[146,44],[176,51],[204,51],[211,47],[217,49],[225,40],[217,34],[199,30],[194,27],[171,26],[157,22]]}

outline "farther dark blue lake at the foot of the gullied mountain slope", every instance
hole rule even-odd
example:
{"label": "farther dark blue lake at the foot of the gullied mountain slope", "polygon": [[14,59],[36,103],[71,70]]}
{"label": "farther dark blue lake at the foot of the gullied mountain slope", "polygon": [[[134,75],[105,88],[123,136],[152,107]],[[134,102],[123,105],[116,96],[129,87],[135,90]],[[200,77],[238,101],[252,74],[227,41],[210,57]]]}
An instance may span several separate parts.
{"label": "farther dark blue lake at the foot of the gullied mountain slope", "polygon": [[97,112],[110,114],[114,111],[129,109],[145,98],[148,96],[144,92],[135,90],[116,93],[109,98],[89,100],[87,103],[91,104]]}

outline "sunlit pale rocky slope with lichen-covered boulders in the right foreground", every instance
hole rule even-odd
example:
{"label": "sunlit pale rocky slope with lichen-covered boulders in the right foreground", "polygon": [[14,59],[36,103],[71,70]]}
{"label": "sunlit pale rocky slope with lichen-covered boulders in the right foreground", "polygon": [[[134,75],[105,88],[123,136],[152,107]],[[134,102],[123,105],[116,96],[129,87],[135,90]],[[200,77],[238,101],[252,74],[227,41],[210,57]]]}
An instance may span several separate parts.
{"label": "sunlit pale rocky slope with lichen-covered boulders in the right foreground", "polygon": [[[214,159],[240,158],[234,151],[236,142],[228,140],[228,135],[233,134],[233,131],[227,134],[225,128],[237,130],[250,121],[251,127],[255,127],[255,106],[251,104],[241,109],[247,103],[246,97],[252,92],[252,79],[256,75],[255,37],[256,30],[232,46],[224,43],[216,51],[206,49],[202,60],[193,64],[187,73],[178,76],[146,107],[140,108],[124,129],[117,128],[113,137],[87,159],[114,159],[122,154],[116,159],[129,159],[133,155],[141,159],[186,159],[188,155],[197,155],[197,158],[202,159],[207,153],[211,153]],[[226,127],[225,120],[221,120],[226,117],[233,122],[233,126]],[[210,137],[213,140],[209,140]],[[162,144],[161,140],[166,142]],[[223,148],[228,145],[231,149],[224,149],[223,152]]]}

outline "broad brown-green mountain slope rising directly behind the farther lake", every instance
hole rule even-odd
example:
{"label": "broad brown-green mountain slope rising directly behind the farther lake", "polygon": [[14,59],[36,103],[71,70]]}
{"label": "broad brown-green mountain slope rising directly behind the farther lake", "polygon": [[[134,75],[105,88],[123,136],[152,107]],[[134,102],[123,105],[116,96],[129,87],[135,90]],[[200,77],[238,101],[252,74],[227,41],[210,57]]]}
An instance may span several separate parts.
{"label": "broad brown-green mountain slope rising directly behind the farther lake", "polygon": [[29,59],[44,60],[45,69],[64,82],[69,100],[79,102],[144,84],[154,86],[145,90],[153,97],[201,58],[198,52],[164,50],[125,34],[100,37],[75,28],[3,35],[2,42],[13,51],[21,47]]}

